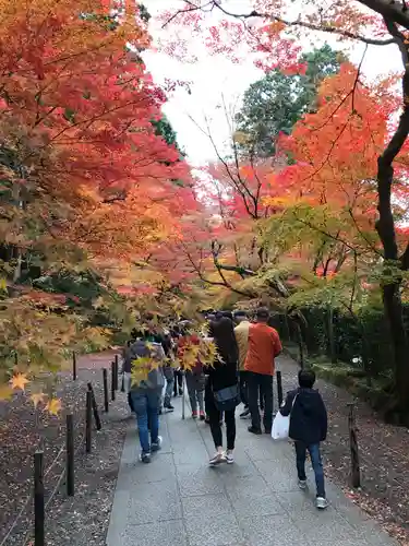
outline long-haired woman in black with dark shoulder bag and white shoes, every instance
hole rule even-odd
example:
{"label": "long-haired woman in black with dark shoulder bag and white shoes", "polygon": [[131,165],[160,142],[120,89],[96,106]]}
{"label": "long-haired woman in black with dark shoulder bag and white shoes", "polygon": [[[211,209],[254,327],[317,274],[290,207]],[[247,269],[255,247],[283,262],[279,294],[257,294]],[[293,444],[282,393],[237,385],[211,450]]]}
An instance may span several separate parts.
{"label": "long-haired woman in black with dark shoulder bag and white shoes", "polygon": [[209,464],[215,466],[221,462],[228,464],[234,462],[236,407],[224,412],[227,437],[227,450],[224,452],[220,427],[221,413],[215,402],[215,392],[238,384],[239,351],[231,319],[221,317],[219,320],[212,322],[209,334],[216,344],[218,353],[214,366],[207,368],[208,383],[206,389],[206,411],[208,412],[212,437],[216,448],[216,453],[210,459]]}

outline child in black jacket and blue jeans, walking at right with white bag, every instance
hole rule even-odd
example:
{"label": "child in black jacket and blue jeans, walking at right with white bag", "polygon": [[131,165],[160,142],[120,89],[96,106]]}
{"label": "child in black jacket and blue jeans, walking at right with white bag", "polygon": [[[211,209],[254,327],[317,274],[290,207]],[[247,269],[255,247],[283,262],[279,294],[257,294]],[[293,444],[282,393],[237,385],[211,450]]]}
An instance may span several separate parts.
{"label": "child in black jacket and blue jeans, walking at right with white bag", "polygon": [[298,382],[300,387],[287,394],[280,414],[284,416],[290,415],[289,437],[296,443],[300,488],[305,489],[306,487],[305,456],[308,450],[315,474],[316,507],[325,509],[328,502],[325,497],[320,442],[326,439],[327,413],[321,394],[313,389],[315,373],[312,370],[300,370]]}

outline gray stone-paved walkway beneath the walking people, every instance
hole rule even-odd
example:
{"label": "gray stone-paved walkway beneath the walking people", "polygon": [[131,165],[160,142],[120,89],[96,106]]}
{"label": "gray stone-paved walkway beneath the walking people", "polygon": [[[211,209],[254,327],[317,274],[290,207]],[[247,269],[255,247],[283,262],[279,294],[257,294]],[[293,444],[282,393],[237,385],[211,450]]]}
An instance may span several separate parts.
{"label": "gray stone-paved walkway beneath the walking people", "polygon": [[[285,383],[293,368],[281,364]],[[330,506],[318,512],[314,482],[300,491],[291,446],[249,434],[237,420],[236,464],[210,468],[209,428],[176,411],[161,418],[164,448],[151,464],[134,423],[125,440],[107,546],[394,546],[332,483]],[[240,407],[241,408],[241,407]]]}

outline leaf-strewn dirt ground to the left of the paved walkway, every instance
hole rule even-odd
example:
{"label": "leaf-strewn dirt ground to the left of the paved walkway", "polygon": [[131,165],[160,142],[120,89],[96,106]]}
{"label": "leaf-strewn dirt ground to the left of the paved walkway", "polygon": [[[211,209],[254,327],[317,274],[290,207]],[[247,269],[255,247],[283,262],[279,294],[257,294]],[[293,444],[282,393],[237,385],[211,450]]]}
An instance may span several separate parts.
{"label": "leaf-strewn dirt ground to the left of the paved walkway", "polygon": [[[117,393],[105,414],[103,368],[113,353],[79,358],[77,379],[60,373],[57,393],[63,411],[59,417],[37,415],[23,394],[0,403],[0,546],[29,545],[33,538],[33,455],[45,453],[47,545],[100,546],[109,522],[119,460],[129,419],[124,395]],[[110,373],[108,372],[108,377]],[[93,450],[85,453],[85,396],[93,383],[103,429],[93,429]],[[119,385],[120,387],[120,385]],[[109,393],[110,394],[110,393]],[[75,427],[75,496],[65,495],[65,413]]]}

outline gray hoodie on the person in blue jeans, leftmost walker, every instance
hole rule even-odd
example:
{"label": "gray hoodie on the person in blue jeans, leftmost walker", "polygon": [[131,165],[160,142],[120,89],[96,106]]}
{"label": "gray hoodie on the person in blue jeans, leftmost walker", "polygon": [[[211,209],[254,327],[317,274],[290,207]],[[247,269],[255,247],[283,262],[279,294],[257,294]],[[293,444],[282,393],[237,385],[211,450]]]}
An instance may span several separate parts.
{"label": "gray hoodie on the person in blue jeans, leftmost walker", "polygon": [[[145,342],[144,340],[137,340],[132,345],[127,347],[123,355],[123,371],[131,372],[132,361],[139,357],[152,357],[160,363],[165,361],[165,351],[160,343]],[[149,371],[147,379],[141,381],[141,383],[131,387],[132,391],[135,390],[158,390],[160,391],[165,385],[165,377],[163,365],[157,369]]]}

